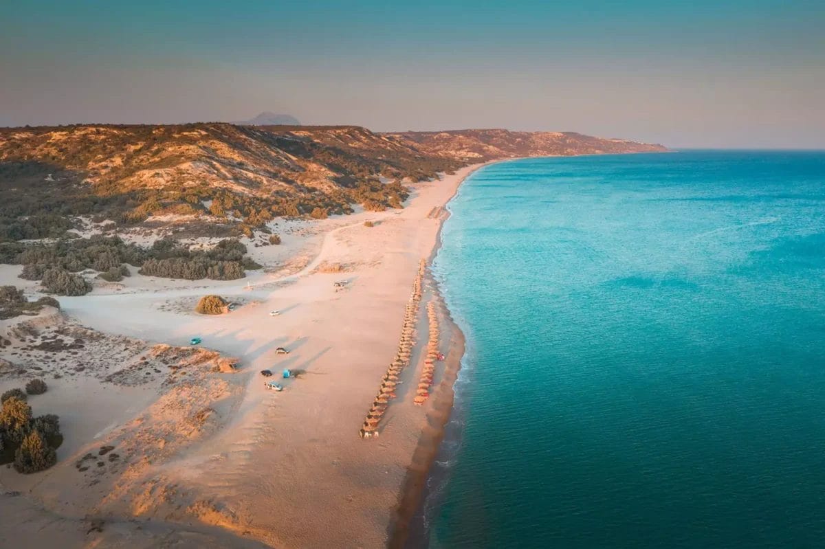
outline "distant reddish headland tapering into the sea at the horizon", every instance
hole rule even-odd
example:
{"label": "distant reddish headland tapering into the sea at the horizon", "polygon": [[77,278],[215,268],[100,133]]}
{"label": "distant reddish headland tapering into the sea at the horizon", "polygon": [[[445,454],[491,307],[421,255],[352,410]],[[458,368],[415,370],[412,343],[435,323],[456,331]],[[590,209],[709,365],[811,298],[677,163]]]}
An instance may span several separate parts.
{"label": "distant reddish headland tapering into the sea at the horizon", "polygon": [[574,132],[512,132],[507,129],[460,129],[444,132],[403,132],[396,138],[416,143],[428,154],[462,162],[508,157],[573,156],[617,152],[664,152],[658,144],[596,138]]}

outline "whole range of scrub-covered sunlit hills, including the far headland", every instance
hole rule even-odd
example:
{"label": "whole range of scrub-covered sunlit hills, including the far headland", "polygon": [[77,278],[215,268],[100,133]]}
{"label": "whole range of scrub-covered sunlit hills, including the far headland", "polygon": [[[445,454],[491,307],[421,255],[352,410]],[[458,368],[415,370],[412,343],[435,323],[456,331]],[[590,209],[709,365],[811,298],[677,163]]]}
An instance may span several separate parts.
{"label": "whole range of scrub-covered sunlit hills, including the far headland", "polygon": [[400,208],[404,182],[520,156],[659,145],[502,129],[378,134],[357,126],[199,123],[0,129],[0,241],[61,237],[78,218],[171,218],[247,235],[272,218]]}

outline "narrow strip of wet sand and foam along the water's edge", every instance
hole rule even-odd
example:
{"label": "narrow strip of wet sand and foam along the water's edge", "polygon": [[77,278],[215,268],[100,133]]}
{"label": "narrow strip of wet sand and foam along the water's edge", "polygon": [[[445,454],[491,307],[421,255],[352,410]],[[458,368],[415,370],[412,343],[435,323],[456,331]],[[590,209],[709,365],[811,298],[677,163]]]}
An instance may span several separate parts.
{"label": "narrow strip of wet sand and foam along the water's edge", "polygon": [[436,457],[441,448],[441,442],[444,439],[446,426],[450,422],[450,417],[453,413],[455,381],[458,379],[461,361],[464,359],[466,345],[464,332],[461,331],[460,326],[458,326],[452,317],[450,309],[446,306],[444,296],[441,294],[441,288],[431,271],[432,262],[436,259],[444,243],[442,240],[444,223],[450,218],[450,211],[446,209],[446,206],[458,195],[461,185],[469,176],[472,176],[476,171],[479,171],[479,169],[497,162],[502,161],[484,162],[480,164],[472,171],[469,171],[469,173],[459,181],[458,185],[455,185],[455,192],[443,206],[446,215],[441,218],[441,223],[436,234],[436,245],[433,246],[431,254],[427,258],[427,265],[429,265],[430,270],[427,272],[426,280],[432,286],[436,307],[438,307],[441,313],[443,323],[445,326],[449,326],[449,351],[444,361],[444,373],[442,374],[441,382],[438,384],[436,397],[432,402],[431,409],[427,411],[427,424],[424,425],[418,439],[412,462],[407,468],[407,474],[398,498],[398,506],[394,510],[393,517],[389,523],[389,541],[387,547],[390,549],[403,549],[403,547],[407,547],[412,535],[417,533],[411,528],[411,523],[417,516],[418,511],[422,509],[422,504],[424,504],[426,500],[427,479],[430,477],[432,466],[436,461]]}

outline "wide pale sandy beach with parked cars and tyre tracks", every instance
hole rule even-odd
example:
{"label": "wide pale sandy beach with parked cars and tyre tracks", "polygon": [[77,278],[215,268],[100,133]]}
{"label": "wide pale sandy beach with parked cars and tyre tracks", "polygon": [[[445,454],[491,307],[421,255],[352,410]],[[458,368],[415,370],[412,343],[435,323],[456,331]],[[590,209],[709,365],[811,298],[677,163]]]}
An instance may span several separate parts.
{"label": "wide pale sandy beach with parked cars and tyre tracks", "polygon": [[[60,298],[62,312],[18,326],[0,354],[0,392],[40,364],[50,390],[30,403],[35,415],[60,416],[65,442],[45,472],[0,469],[0,545],[403,545],[464,349],[427,273],[380,437],[361,439],[359,429],[398,349],[420,262],[436,250],[444,205],[476,167],[410,185],[401,210],[273,223],[283,244],[247,242],[265,269],[246,279],[133,276]],[[2,284],[34,290],[18,269],[4,266]],[[238,307],[198,315],[206,293]],[[440,326],[431,345],[446,357],[431,365],[417,406],[434,333],[428,303]],[[197,350],[187,347],[193,336]],[[44,344],[56,340],[62,346]],[[219,372],[220,357],[237,359],[238,371]],[[262,378],[264,368],[275,377]],[[284,368],[298,376],[281,379]],[[267,391],[269,379],[284,390]]]}

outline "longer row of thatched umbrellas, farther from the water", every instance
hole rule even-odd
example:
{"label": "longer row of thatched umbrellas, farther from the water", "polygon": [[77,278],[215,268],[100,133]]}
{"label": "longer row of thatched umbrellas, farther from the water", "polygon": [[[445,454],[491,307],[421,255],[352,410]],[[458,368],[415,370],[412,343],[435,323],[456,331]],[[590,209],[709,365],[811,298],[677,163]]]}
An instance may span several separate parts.
{"label": "longer row of thatched umbrellas, farther from the water", "polygon": [[380,424],[384,412],[387,411],[389,401],[395,398],[395,387],[399,383],[398,376],[403,368],[407,367],[410,362],[410,355],[413,354],[415,320],[418,314],[418,303],[421,302],[421,286],[426,268],[427,262],[421,260],[418,266],[418,274],[413,282],[413,293],[410,295],[407,307],[404,310],[404,323],[401,330],[401,340],[398,343],[398,353],[395,354],[392,364],[389,364],[387,372],[381,378],[381,387],[378,394],[375,395],[370,411],[367,412],[364,425],[361,425],[361,430],[358,432],[362,439],[378,436],[378,424]]}

